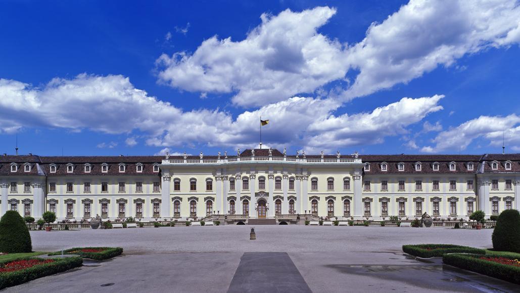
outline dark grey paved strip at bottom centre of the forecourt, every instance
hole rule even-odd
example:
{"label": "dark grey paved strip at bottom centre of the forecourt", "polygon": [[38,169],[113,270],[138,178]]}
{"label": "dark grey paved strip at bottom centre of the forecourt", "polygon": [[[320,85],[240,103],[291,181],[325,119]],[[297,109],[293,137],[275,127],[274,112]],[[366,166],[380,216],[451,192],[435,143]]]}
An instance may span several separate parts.
{"label": "dark grey paved strip at bottom centre of the forecourt", "polygon": [[245,252],[228,292],[311,292],[286,252]]}

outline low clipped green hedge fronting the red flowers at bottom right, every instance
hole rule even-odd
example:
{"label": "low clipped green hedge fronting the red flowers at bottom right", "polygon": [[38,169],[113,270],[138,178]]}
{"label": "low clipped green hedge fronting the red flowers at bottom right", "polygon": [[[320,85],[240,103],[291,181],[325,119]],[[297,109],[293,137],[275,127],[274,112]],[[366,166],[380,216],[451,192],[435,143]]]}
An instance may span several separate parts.
{"label": "low clipped green hedge fronting the red flowers at bottom right", "polygon": [[[498,256],[498,255],[497,255]],[[520,267],[479,259],[479,254],[445,254],[445,264],[520,284]],[[486,257],[489,257],[486,255]],[[492,256],[491,256],[492,257]]]}

